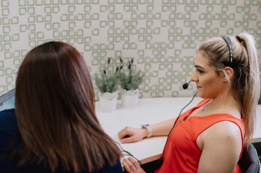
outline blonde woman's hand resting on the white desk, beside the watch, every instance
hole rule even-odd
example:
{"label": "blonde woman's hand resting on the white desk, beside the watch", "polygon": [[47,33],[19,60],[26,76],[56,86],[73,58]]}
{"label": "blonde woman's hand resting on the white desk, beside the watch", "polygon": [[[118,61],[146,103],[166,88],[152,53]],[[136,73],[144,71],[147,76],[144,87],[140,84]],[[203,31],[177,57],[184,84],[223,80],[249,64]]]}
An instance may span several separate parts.
{"label": "blonde woman's hand resting on the white desk, beside the watch", "polygon": [[147,135],[148,131],[146,128],[133,127],[125,127],[118,133],[118,136],[121,139],[121,143],[137,142],[146,137]]}

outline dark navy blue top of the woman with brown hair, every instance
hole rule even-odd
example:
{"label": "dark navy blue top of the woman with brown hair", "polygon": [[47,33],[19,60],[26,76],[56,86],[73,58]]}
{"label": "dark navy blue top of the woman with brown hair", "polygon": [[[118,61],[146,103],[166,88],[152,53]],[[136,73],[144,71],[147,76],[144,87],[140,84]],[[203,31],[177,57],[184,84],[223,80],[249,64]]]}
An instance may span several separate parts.
{"label": "dark navy blue top of the woman with brown hair", "polygon": [[[14,173],[47,173],[51,172],[50,169],[44,168],[41,165],[18,167],[17,163],[5,158],[3,153],[13,140],[18,131],[18,126],[15,117],[15,109],[7,109],[0,112],[0,172],[14,172]],[[17,158],[15,158],[17,159]],[[56,173],[66,172],[62,167],[59,167]],[[115,166],[107,164],[103,169],[94,171],[93,173],[111,173],[122,172],[120,161]]]}

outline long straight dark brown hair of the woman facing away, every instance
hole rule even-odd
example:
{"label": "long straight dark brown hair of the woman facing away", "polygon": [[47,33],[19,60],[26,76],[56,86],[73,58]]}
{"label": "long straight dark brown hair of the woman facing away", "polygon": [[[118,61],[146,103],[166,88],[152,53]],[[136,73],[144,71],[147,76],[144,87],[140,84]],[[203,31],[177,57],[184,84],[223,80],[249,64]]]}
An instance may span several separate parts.
{"label": "long straight dark brown hair of the woman facing away", "polygon": [[18,164],[45,160],[51,171],[61,165],[75,172],[115,165],[121,152],[100,127],[94,104],[90,73],[74,47],[53,41],[32,49],[16,78]]}

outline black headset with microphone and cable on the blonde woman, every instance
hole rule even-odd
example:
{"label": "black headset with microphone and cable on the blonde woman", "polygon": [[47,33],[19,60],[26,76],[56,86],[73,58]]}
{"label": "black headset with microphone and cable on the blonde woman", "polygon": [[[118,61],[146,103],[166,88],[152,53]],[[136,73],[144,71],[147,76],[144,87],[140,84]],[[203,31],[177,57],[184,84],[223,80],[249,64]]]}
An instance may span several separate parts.
{"label": "black headset with microphone and cable on the blonde woman", "polygon": [[[229,49],[229,61],[224,61],[223,64],[224,64],[224,66],[226,66],[226,67],[232,67],[232,68],[233,68],[233,67],[236,67],[236,66],[238,65],[238,63],[235,63],[235,62],[234,62],[234,56],[233,56],[233,49],[232,49],[231,39],[230,39],[229,37],[222,37],[222,38],[227,42],[228,49]],[[240,39],[239,36],[236,36],[236,38],[240,41],[240,43],[242,42],[242,40]],[[187,89],[187,88],[188,88],[188,84],[189,84],[190,82],[191,82],[191,81],[189,81],[188,83],[183,84],[182,88],[183,88],[183,89]],[[198,92],[196,92],[196,94],[197,94],[197,93],[198,93]],[[194,99],[194,97],[196,96],[196,94],[193,96],[192,100]],[[186,108],[186,107],[192,102],[192,100],[191,100],[184,108]],[[184,109],[184,108],[183,108],[183,109]],[[183,109],[182,109],[182,110],[183,110]],[[181,114],[182,110],[180,111],[180,114]],[[180,116],[180,114],[179,114],[179,116]],[[179,119],[179,116],[177,117],[177,119],[176,119],[176,121],[175,121],[175,123],[174,123],[172,129],[170,130],[170,132],[169,132],[169,134],[168,134],[167,141],[168,141],[168,138],[169,138],[169,135],[170,135],[171,131],[173,130],[173,128],[174,128],[174,126],[175,126],[177,120]],[[159,160],[158,160],[157,169],[158,169],[158,168],[162,165],[162,163],[163,163],[164,150],[165,150],[167,141],[166,141],[166,143],[165,143],[165,146],[164,146],[164,149],[163,149],[163,152],[162,152],[162,157],[159,158]]]}

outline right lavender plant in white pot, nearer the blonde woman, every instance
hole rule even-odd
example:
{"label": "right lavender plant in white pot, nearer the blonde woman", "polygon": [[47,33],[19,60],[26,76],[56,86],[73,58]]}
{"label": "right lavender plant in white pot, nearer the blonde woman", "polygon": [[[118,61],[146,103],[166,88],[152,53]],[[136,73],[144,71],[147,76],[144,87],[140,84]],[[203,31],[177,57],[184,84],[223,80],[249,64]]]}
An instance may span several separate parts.
{"label": "right lavender plant in white pot, nearer the blonde woman", "polygon": [[[127,109],[133,109],[138,106],[139,97],[139,85],[143,81],[143,74],[139,70],[138,72],[133,68],[134,57],[130,57],[127,74],[123,71],[118,73],[121,83],[121,99],[122,107]],[[122,56],[120,56],[122,63]]]}

